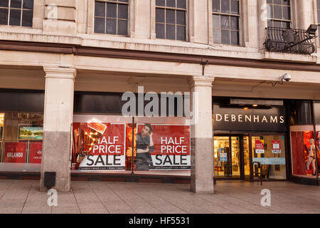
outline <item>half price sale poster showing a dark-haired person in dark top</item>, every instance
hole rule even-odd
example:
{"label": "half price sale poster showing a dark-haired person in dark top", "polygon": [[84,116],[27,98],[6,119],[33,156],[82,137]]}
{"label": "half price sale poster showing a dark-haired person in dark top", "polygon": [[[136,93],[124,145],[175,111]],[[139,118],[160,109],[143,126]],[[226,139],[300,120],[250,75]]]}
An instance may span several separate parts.
{"label": "half price sale poster showing a dark-haired person in dark top", "polygon": [[137,125],[137,170],[140,163],[144,170],[189,170],[190,158],[188,125]]}

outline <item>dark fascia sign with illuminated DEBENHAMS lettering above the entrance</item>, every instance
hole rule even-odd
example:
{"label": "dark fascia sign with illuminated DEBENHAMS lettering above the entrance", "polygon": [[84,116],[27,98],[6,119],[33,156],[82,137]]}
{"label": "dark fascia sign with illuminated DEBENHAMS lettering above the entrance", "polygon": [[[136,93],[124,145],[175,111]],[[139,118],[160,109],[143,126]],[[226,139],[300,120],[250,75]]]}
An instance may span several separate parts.
{"label": "dark fascia sign with illuminated DEBENHAMS lettering above the entrance", "polygon": [[284,108],[244,109],[213,105],[214,130],[285,131]]}

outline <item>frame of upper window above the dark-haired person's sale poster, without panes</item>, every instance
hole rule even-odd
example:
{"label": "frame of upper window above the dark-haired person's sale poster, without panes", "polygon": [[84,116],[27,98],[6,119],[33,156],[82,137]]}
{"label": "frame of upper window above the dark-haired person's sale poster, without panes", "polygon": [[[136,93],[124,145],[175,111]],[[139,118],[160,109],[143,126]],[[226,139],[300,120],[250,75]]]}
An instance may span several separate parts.
{"label": "frame of upper window above the dark-haired person's sale poster, without panes", "polygon": [[[152,12],[154,13],[154,16],[152,16],[151,14],[151,18],[154,18],[154,20],[151,20],[151,23],[154,25],[154,27],[151,27],[151,38],[154,38],[154,39],[159,39],[159,40],[166,40],[166,41],[181,41],[181,42],[188,42],[190,41],[190,38],[189,38],[189,29],[188,29],[188,21],[191,20],[189,19],[189,17],[191,16],[190,15],[190,8],[191,8],[191,1],[193,0],[186,0],[186,9],[182,9],[182,8],[177,8],[177,7],[170,7],[170,6],[156,6],[156,0],[151,0],[151,7],[152,7]],[[165,0],[165,3],[166,3],[166,0]],[[156,9],[164,9],[164,23],[159,23],[159,22],[156,22]],[[178,24],[174,24],[175,26],[175,39],[169,39],[169,38],[166,38],[166,10],[174,10],[175,11],[175,15],[176,15],[176,11],[184,11],[185,12],[185,40],[178,40],[176,39],[176,26]],[[164,38],[157,38],[156,37],[156,24],[164,24]],[[182,26],[182,25],[180,25]]]}

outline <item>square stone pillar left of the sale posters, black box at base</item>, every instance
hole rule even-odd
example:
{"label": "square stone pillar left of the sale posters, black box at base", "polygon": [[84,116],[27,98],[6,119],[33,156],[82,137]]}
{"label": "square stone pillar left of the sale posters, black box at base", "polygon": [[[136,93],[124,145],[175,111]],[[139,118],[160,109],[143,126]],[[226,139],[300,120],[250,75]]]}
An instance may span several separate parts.
{"label": "square stone pillar left of the sale posters, black box at base", "polygon": [[44,172],[56,172],[57,191],[70,190],[71,124],[75,68],[43,67],[46,92],[43,123],[43,157],[40,190],[44,187]]}

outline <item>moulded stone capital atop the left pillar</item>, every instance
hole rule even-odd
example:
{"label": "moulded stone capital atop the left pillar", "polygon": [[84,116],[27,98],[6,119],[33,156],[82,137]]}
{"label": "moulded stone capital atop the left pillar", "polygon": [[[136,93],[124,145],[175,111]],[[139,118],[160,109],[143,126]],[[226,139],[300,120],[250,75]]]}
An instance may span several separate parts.
{"label": "moulded stone capital atop the left pillar", "polygon": [[77,76],[77,70],[70,67],[61,66],[43,66],[43,71],[46,73],[45,78],[61,78],[73,79]]}

